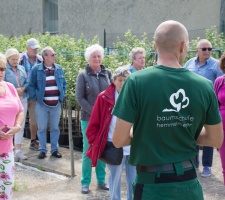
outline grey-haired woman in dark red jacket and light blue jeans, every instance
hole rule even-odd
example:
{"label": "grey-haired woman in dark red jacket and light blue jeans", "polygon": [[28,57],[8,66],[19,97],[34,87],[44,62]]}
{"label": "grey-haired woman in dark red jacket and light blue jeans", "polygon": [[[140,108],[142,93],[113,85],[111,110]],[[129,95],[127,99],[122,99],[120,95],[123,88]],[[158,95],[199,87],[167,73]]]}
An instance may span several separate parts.
{"label": "grey-haired woman in dark red jacket and light blue jeans", "polygon": [[[91,158],[93,167],[96,166],[98,159],[101,157],[106,142],[112,142],[116,117],[111,112],[129,74],[128,68],[117,68],[113,73],[113,83],[98,95],[94,104],[86,132],[90,144],[87,156]],[[124,167],[126,168],[127,200],[132,199],[132,183],[136,176],[136,168],[129,165],[129,155],[130,146],[125,146],[123,147],[122,163],[120,165],[107,164],[110,171],[109,192],[111,200],[121,199],[121,175]]]}

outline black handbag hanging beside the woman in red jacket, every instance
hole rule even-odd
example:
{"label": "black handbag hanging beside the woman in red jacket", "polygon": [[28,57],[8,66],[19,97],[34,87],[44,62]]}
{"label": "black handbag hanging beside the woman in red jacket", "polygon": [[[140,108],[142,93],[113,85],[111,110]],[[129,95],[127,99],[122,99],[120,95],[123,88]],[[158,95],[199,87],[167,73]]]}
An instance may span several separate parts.
{"label": "black handbag hanging beside the woman in red jacket", "polygon": [[112,142],[105,145],[105,149],[99,160],[109,165],[120,165],[123,159],[123,147],[116,148]]}

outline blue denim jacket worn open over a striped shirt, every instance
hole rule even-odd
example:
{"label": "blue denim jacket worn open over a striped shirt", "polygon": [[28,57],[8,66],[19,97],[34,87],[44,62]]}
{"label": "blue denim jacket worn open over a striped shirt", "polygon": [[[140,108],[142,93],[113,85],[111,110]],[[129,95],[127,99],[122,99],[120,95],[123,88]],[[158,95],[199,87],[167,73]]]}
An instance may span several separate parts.
{"label": "blue denim jacket worn open over a striped shirt", "polygon": [[[55,67],[55,80],[60,92],[59,102],[62,103],[66,92],[66,79],[62,67],[58,64],[54,64],[54,67]],[[43,63],[40,63],[38,65],[35,65],[31,70],[28,85],[28,94],[30,99],[34,101],[37,100],[39,103],[43,102],[45,85],[46,85],[46,74],[44,71],[44,65]]]}

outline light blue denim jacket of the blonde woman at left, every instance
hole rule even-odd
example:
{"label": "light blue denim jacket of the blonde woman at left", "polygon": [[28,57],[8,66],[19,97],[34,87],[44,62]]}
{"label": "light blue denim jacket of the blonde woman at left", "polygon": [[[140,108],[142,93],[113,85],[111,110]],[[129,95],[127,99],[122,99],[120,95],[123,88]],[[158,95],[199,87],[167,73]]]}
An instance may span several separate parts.
{"label": "light blue denim jacket of the blonde woman at left", "polygon": [[[27,74],[26,74],[23,66],[17,65],[16,68],[17,68],[17,72],[18,72],[20,86],[27,88],[28,87],[28,78],[27,78]],[[13,68],[9,65],[8,62],[6,63],[6,72],[5,72],[4,80],[12,83],[15,88],[19,87],[17,80],[16,80],[16,76],[13,71]],[[26,92],[24,92],[23,96],[26,97]]]}

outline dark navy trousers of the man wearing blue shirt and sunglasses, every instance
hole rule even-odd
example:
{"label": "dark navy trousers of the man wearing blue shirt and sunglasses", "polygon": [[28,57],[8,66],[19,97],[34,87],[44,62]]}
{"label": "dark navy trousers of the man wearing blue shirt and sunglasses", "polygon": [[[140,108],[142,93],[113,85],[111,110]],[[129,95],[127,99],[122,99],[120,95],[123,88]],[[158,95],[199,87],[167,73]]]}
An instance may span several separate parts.
{"label": "dark navy trousers of the man wearing blue shirt and sunglasses", "polygon": [[[199,146],[197,145],[196,167],[199,167]],[[203,167],[212,167],[213,162],[213,147],[203,147],[202,150],[202,165]]]}

